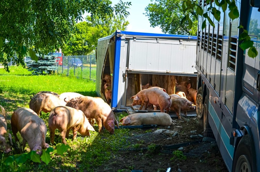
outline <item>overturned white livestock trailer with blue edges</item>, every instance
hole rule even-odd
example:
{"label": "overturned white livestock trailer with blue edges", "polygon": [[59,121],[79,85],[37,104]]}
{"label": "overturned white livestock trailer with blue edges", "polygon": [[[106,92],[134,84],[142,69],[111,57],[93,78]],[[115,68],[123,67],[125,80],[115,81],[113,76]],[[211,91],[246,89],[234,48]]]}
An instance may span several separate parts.
{"label": "overturned white livestock trailer with blue edges", "polygon": [[98,39],[96,94],[107,101],[103,75],[111,75],[111,108],[131,106],[130,99],[151,84],[175,93],[175,82],[190,80],[196,88],[197,36],[153,34],[116,30]]}

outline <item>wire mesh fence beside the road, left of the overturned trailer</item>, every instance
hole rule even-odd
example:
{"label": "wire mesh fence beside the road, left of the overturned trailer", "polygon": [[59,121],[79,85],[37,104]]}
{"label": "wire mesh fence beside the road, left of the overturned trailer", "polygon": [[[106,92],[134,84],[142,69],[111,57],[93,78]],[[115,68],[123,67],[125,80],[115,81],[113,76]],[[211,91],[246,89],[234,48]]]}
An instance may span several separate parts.
{"label": "wire mesh fence beside the road, left of the overturned trailer", "polygon": [[57,73],[96,81],[96,56],[63,56],[57,60]]}

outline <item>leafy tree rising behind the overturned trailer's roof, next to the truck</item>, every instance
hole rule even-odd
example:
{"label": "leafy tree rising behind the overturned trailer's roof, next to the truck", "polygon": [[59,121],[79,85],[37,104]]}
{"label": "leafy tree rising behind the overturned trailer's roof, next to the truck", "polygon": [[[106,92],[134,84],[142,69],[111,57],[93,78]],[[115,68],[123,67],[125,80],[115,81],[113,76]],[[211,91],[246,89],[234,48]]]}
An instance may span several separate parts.
{"label": "leafy tree rising behind the overturned trailer's roof, next to the truck", "polygon": [[[190,14],[189,23],[180,23],[184,17],[182,0],[155,0],[145,8],[152,27],[160,26],[162,32],[169,34],[197,35],[197,17]],[[191,25],[192,27],[188,27]]]}

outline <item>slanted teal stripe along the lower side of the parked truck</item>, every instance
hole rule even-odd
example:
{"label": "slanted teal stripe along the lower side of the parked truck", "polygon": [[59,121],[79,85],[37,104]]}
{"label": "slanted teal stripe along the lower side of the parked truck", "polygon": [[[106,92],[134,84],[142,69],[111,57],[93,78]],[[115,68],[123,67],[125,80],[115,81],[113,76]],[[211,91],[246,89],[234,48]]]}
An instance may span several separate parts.
{"label": "slanted teal stripe along the lower side of the parked truck", "polygon": [[209,105],[209,107],[211,106],[211,108],[209,108],[210,109],[209,114],[211,115],[211,117],[215,123],[215,126],[217,127],[218,133],[221,137],[222,142],[225,145],[227,152],[229,153],[230,158],[233,160],[234,147],[232,145],[230,145],[229,136],[226,133],[222,123],[220,122],[220,119],[218,118],[218,115],[217,115],[214,107],[211,105],[210,101],[208,101],[208,105]]}

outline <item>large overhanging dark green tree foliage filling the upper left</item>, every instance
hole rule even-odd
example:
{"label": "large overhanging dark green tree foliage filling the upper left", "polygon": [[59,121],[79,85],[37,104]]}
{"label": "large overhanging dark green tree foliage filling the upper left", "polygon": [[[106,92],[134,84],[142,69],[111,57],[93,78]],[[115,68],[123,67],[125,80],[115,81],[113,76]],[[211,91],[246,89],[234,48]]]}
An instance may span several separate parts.
{"label": "large overhanging dark green tree foliage filling the upper left", "polygon": [[[23,57],[29,52],[53,52],[63,48],[75,31],[75,24],[82,21],[82,13],[91,17],[128,16],[131,2],[111,6],[110,0],[1,0],[0,1],[0,63],[5,70],[14,56],[15,63],[24,66]],[[4,58],[3,54],[7,57]]]}

